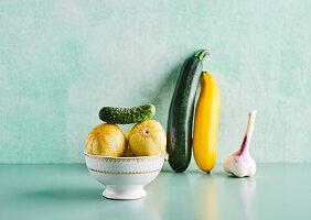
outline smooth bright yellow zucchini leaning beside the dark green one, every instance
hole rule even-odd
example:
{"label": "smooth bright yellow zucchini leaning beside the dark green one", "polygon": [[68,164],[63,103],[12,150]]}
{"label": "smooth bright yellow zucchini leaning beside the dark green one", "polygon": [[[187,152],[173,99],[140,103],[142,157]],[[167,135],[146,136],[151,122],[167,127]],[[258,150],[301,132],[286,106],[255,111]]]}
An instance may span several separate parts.
{"label": "smooth bright yellow zucchini leaning beside the dark green one", "polygon": [[219,109],[221,95],[216,81],[204,72],[195,109],[193,154],[196,165],[208,173],[216,163]]}

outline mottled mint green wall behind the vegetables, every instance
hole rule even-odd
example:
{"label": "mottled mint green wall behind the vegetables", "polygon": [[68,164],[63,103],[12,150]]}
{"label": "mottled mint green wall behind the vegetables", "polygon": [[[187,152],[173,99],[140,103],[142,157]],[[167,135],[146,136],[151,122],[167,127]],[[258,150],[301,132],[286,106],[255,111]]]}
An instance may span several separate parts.
{"label": "mottled mint green wall behind the vegetables", "polygon": [[[199,48],[222,108],[218,161],[257,121],[257,162],[311,162],[311,1],[0,1],[0,163],[83,162],[103,106],[152,102],[167,127]],[[127,128],[125,128],[127,129]]]}

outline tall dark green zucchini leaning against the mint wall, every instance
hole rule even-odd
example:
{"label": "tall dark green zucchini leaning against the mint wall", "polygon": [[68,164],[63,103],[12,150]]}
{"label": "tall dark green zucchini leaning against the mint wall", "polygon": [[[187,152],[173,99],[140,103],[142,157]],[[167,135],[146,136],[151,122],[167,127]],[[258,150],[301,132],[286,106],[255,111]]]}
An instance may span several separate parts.
{"label": "tall dark green zucchini leaning against the mint wall", "polygon": [[172,97],[168,120],[168,153],[170,166],[175,172],[184,172],[191,161],[195,91],[202,75],[202,62],[207,54],[201,50],[184,62]]}

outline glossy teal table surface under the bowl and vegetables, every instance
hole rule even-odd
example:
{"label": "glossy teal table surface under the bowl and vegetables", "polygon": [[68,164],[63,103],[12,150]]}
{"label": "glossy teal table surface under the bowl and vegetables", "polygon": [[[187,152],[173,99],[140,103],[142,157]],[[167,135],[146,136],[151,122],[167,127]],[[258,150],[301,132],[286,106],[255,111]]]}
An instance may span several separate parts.
{"label": "glossy teal table surface under the bowl and vegetables", "polygon": [[0,165],[0,219],[311,219],[311,164],[257,164],[234,178],[164,170],[138,200],[109,200],[84,164]]}

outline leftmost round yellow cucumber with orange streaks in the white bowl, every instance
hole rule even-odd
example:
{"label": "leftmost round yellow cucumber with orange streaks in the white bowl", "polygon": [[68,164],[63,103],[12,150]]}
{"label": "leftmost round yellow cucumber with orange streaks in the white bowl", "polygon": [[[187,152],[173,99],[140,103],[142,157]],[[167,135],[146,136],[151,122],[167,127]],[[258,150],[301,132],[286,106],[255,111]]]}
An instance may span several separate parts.
{"label": "leftmost round yellow cucumber with orange streaks in the white bowl", "polygon": [[95,127],[86,139],[86,153],[98,156],[121,156],[127,148],[127,139],[116,124]]}

